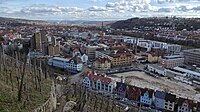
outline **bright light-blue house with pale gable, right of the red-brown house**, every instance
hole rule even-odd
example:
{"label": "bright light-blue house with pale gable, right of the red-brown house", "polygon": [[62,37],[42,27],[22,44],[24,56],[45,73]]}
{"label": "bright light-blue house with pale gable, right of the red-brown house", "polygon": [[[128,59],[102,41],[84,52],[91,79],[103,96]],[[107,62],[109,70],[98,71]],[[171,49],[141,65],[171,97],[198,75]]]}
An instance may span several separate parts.
{"label": "bright light-blue house with pale gable, right of the red-brown house", "polygon": [[150,106],[153,102],[153,92],[152,89],[141,89],[140,103]]}

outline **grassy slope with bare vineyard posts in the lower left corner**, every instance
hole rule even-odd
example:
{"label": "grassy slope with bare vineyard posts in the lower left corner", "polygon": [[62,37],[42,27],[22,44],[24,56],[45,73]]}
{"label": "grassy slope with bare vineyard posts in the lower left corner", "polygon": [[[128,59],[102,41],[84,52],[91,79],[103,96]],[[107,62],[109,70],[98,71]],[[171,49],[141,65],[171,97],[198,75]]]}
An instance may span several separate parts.
{"label": "grassy slope with bare vineyard posts in the lower left corner", "polygon": [[[8,69],[13,69],[9,67]],[[15,70],[12,70],[12,80],[9,77],[9,72],[0,71],[0,112],[27,112],[31,111],[48,99],[48,94],[51,87],[51,81],[42,78],[42,91],[34,88],[32,77],[30,74],[25,76],[25,82],[27,82],[27,90],[22,93],[22,101],[19,102],[18,98],[18,86]],[[7,80],[8,79],[8,80]]]}

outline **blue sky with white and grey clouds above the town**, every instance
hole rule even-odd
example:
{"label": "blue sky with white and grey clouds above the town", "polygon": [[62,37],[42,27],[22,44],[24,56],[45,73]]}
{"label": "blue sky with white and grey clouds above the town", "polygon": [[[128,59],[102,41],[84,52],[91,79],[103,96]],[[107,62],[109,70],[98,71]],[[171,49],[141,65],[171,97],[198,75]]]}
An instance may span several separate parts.
{"label": "blue sky with white and grey clouds above the town", "polygon": [[0,16],[37,20],[200,17],[200,0],[0,0]]}

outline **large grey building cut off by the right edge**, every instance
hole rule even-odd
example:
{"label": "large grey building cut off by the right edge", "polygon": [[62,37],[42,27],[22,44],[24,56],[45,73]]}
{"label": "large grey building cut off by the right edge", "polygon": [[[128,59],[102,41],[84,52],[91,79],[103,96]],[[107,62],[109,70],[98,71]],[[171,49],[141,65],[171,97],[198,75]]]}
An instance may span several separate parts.
{"label": "large grey building cut off by the right edge", "polygon": [[200,67],[200,49],[190,49],[183,51],[184,63],[189,65],[197,65]]}

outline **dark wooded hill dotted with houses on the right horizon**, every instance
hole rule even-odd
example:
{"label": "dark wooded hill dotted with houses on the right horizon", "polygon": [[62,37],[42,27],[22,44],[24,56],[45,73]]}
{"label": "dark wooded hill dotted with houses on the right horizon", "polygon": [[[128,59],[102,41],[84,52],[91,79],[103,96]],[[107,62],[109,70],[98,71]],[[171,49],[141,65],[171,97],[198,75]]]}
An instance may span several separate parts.
{"label": "dark wooded hill dotted with houses on the right horizon", "polygon": [[121,20],[113,23],[111,28],[114,29],[128,29],[135,28],[142,29],[145,27],[158,28],[169,27],[176,28],[176,30],[197,30],[200,29],[199,18],[131,18],[127,20]]}

